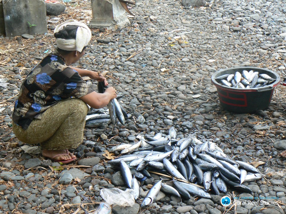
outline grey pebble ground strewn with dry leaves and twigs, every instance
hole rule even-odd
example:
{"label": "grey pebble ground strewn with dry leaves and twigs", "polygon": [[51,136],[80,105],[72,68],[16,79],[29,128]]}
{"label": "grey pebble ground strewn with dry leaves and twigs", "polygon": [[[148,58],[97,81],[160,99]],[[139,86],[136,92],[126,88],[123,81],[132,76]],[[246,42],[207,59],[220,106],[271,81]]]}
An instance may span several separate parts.
{"label": "grey pebble ground strewn with dry leaves and twigs", "polygon": [[[67,3],[67,12],[60,17],[86,23],[91,14],[88,4]],[[102,201],[100,189],[126,188],[118,169],[107,163],[111,155],[119,153],[108,154],[106,150],[133,143],[138,134],[167,135],[170,126],[177,129],[179,138],[195,134],[216,142],[235,160],[256,161],[260,172],[266,174],[246,183],[258,198],[229,189],[226,194],[232,198],[250,197],[256,203],[237,205],[227,213],[286,213],[285,160],[279,156],[286,149],[285,86],[274,89],[269,108],[237,114],[221,107],[217,89],[210,81],[215,71],[233,66],[267,68],[284,78],[285,6],[284,0],[207,0],[204,7],[192,8],[183,7],[177,0],[145,0],[136,11],[130,9],[136,17],[129,17],[129,27],[116,31],[92,29],[86,55],[76,66],[106,71],[108,82],[122,95],[119,101],[130,116],[125,126],[86,129],[84,142],[74,151],[79,157],[76,167],[23,152],[21,147],[25,145],[11,129],[15,96],[23,78],[55,49],[54,26],[49,23],[46,35],[28,40],[0,37],[1,78],[9,79],[7,88],[0,87],[0,213],[82,213],[80,203],[86,210],[96,208],[96,203],[87,204],[85,199],[98,203]],[[96,90],[96,82],[87,82]],[[140,208],[146,191],[158,180],[153,176],[141,183],[142,195],[133,207],[115,206],[112,212],[221,214],[229,209],[220,203],[223,195],[180,201],[164,193],[152,207]],[[261,203],[271,198],[280,202]]]}

